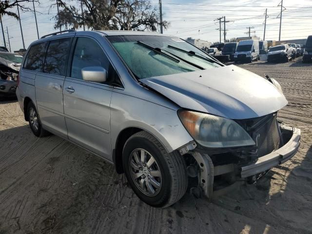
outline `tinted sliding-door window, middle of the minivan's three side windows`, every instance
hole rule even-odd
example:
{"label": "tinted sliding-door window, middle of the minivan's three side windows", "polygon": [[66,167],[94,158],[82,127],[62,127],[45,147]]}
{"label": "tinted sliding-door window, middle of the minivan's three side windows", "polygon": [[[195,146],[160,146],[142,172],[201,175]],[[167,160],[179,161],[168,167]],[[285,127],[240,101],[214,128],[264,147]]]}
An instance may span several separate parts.
{"label": "tinted sliding-door window, middle of the minivan's three side windows", "polygon": [[44,73],[65,76],[71,38],[51,40],[44,62]]}

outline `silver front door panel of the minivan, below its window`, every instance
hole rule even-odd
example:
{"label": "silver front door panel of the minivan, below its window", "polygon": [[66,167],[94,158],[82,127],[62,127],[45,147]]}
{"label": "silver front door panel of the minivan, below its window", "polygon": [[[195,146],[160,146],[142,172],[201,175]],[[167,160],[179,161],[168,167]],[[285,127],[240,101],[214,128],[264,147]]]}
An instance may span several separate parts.
{"label": "silver front door panel of the minivan, below its window", "polygon": [[[110,102],[113,88],[74,78],[66,78],[64,87],[69,140],[111,160]],[[66,91],[68,87],[75,91]]]}

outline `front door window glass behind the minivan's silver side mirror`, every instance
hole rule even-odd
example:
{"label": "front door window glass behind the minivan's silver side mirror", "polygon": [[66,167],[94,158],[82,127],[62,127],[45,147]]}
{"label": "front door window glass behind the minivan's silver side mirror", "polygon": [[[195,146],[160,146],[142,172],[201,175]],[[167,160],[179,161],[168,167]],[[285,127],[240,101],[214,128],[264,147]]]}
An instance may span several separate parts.
{"label": "front door window glass behind the minivan's silver side mirror", "polygon": [[103,49],[90,38],[78,38],[71,69],[71,77],[82,79],[81,69],[84,67],[100,66],[111,75],[112,66]]}

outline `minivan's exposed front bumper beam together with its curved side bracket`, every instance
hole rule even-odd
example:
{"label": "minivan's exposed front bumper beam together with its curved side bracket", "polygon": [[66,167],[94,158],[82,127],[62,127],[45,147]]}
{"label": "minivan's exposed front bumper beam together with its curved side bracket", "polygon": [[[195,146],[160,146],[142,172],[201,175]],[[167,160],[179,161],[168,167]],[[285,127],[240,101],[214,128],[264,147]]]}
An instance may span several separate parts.
{"label": "minivan's exposed front bumper beam together with its curved side bracket", "polygon": [[[198,185],[201,193],[209,199],[223,195],[237,185],[244,183],[245,179],[268,171],[292,158],[300,146],[300,129],[280,126],[280,130],[284,140],[283,146],[253,162],[214,166],[208,154],[190,151],[189,153],[195,158],[199,167]],[[230,175],[232,182],[227,186],[221,186],[221,188],[216,186],[215,176],[222,178],[225,175]]]}

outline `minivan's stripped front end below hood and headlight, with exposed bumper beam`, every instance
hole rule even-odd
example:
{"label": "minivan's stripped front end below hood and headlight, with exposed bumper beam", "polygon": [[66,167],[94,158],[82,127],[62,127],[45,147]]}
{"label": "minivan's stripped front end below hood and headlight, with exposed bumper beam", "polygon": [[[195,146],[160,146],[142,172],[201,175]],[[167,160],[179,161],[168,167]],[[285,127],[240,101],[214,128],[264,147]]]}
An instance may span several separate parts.
{"label": "minivan's stripped front end below hood and headlight, with exposed bumper beam", "polygon": [[195,196],[223,195],[242,183],[254,183],[271,168],[289,160],[300,145],[300,129],[287,127],[277,113],[264,117],[235,120],[254,140],[243,147],[207,148],[192,142],[181,147],[181,155],[191,155],[187,172],[198,178],[191,189]]}

